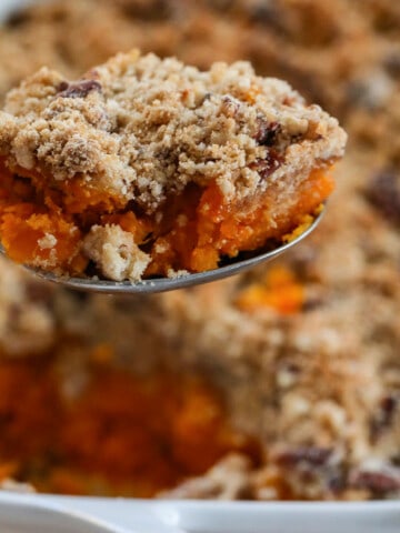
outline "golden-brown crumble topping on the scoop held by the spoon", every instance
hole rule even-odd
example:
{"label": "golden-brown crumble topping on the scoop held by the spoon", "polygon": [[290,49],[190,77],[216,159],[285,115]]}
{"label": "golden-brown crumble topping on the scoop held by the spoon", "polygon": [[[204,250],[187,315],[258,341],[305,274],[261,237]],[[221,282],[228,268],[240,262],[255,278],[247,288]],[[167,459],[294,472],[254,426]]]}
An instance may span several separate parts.
{"label": "golden-brown crumble topping on the scoop held by the spoon", "polygon": [[329,164],[346,141],[336,119],[249,63],[201,72],[137,51],[72,83],[43,68],[4,110],[0,148],[11,167],[44,169],[56,181],[82,175],[147,212],[191,181],[217,181],[227,201],[246,198]]}

